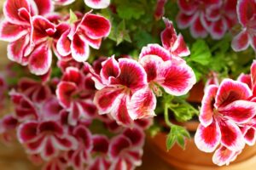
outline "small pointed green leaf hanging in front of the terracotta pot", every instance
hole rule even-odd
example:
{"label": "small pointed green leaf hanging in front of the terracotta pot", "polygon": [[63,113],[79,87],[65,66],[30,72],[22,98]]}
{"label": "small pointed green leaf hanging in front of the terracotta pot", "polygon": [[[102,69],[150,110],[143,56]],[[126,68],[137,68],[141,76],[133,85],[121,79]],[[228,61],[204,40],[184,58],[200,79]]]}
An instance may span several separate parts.
{"label": "small pointed green leaf hanging in front of the terracotta pot", "polygon": [[170,133],[168,133],[166,138],[167,150],[170,150],[175,142],[184,149],[186,138],[190,138],[190,135],[184,127],[172,125]]}

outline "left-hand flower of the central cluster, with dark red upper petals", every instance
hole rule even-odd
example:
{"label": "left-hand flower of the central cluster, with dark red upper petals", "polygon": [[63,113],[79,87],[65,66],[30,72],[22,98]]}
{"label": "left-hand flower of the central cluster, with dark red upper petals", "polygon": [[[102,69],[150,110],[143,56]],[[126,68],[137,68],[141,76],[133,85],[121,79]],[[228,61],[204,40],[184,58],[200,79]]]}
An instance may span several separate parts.
{"label": "left-hand flower of the central cluster, with dark red upper petals", "polygon": [[132,120],[154,116],[155,97],[148,91],[146,72],[137,61],[111,57],[102,63],[100,76],[94,80],[100,89],[94,98],[100,114],[110,113],[126,126]]}

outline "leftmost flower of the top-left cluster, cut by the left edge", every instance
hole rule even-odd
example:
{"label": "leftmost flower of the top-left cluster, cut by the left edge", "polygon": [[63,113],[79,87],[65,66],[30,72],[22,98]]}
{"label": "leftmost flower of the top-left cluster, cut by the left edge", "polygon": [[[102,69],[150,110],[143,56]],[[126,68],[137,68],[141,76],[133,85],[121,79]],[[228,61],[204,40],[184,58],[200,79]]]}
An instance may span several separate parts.
{"label": "leftmost flower of the top-left cluster, cut by the left edge", "polygon": [[[50,0],[44,1],[44,3],[38,0],[7,0],[4,3],[3,14],[5,19],[1,22],[0,38],[9,42],[9,59],[21,65],[31,63],[26,56],[31,54],[34,48],[32,16],[48,14],[52,10],[53,5]],[[35,54],[38,53],[35,52]]]}

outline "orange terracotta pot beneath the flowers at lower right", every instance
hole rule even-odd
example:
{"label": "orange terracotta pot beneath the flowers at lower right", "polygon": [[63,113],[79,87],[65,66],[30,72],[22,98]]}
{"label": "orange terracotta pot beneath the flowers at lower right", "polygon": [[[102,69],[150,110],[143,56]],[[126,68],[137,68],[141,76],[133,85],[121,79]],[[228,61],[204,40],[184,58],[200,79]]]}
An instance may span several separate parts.
{"label": "orange terracotta pot beneath the flowers at lower right", "polygon": [[[198,122],[187,122],[183,124],[189,130],[197,127]],[[160,156],[171,167],[177,167],[182,170],[253,170],[256,167],[256,145],[246,146],[241,154],[237,156],[236,161],[229,166],[218,167],[212,163],[213,153],[205,153],[198,150],[195,146],[194,139],[186,142],[186,148],[183,150],[177,144],[174,144],[171,150],[166,150],[166,133],[158,133],[154,138],[147,136],[148,144],[156,155]]]}

